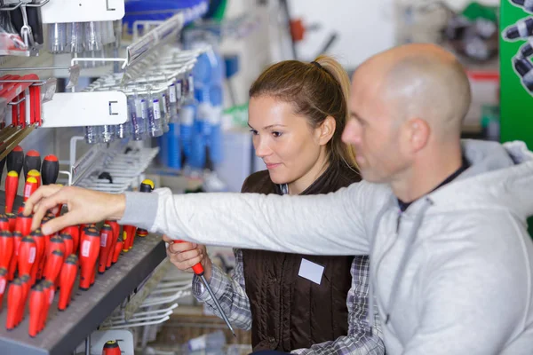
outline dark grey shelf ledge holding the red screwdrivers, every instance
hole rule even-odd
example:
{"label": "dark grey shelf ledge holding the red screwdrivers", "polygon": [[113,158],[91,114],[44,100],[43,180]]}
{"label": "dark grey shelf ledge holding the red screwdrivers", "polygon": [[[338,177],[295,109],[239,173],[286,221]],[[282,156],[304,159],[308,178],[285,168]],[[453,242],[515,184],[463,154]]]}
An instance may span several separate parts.
{"label": "dark grey shelf ledge holding the red screwdrivers", "polygon": [[[51,306],[46,327],[32,338],[28,335],[28,315],[19,327],[5,330],[7,312],[0,313],[2,353],[24,355],[64,355],[71,353],[87,335],[99,327],[139,284],[147,279],[165,258],[164,242],[149,234],[136,238],[133,248],[103,275],[97,275],[87,291],[78,290],[67,310],[60,312],[56,300]],[[75,285],[77,289],[77,285]],[[4,304],[6,304],[4,297]]]}

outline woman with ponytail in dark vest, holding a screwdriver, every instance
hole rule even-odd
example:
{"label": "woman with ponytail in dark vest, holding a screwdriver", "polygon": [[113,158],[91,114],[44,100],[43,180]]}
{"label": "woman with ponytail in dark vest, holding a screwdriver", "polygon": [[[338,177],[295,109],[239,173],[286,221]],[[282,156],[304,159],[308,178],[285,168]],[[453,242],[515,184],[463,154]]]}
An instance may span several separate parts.
{"label": "woman with ponytail in dark vest, holding a screwdriver", "polygon": [[[344,69],[326,56],[267,68],[251,85],[249,106],[253,145],[267,170],[248,177],[242,192],[330,193],[360,181],[354,152],[341,142],[348,88]],[[366,320],[368,256],[235,249],[228,276],[202,245],[173,244],[168,255],[180,270],[203,264],[230,321],[251,328],[254,351],[385,352],[380,330],[370,332]],[[193,294],[217,312],[196,277]]]}

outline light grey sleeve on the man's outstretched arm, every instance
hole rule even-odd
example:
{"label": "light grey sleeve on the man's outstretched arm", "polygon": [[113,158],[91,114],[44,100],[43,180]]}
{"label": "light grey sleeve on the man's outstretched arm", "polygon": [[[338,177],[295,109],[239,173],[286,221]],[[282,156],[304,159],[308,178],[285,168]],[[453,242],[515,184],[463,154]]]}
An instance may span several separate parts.
{"label": "light grey sleeve on the man's outstretched arm", "polygon": [[127,193],[119,222],[207,245],[315,255],[369,254],[364,224],[373,210],[386,203],[390,194],[385,192],[383,186],[368,183],[311,196],[172,195],[169,189],[158,189],[150,194]]}

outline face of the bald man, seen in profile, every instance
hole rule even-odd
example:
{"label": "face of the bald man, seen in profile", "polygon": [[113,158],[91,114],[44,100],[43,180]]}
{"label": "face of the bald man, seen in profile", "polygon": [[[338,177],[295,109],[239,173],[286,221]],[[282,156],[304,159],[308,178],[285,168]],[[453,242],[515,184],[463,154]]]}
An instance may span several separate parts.
{"label": "face of the bald man, seen in profile", "polygon": [[409,166],[402,145],[402,121],[386,99],[383,75],[367,67],[354,74],[349,101],[351,113],[342,139],[354,146],[362,177],[370,182],[390,183]]}

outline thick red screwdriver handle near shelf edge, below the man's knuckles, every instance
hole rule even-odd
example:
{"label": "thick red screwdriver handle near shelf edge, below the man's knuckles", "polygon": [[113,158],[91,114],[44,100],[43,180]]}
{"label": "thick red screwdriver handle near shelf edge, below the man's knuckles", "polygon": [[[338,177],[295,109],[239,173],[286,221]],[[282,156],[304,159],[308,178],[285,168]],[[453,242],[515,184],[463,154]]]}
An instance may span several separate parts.
{"label": "thick red screwdriver handle near shelf edge, below the man's knuckles", "polygon": [[99,255],[99,233],[95,228],[85,228],[80,238],[80,265],[82,266],[80,288],[91,287],[92,274],[95,272]]}

